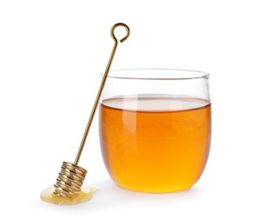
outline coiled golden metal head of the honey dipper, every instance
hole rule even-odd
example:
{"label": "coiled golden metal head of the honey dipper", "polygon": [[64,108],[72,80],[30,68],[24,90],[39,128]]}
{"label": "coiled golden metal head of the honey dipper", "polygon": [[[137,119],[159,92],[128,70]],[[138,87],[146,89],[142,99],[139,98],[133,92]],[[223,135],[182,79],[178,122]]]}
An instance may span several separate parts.
{"label": "coiled golden metal head of the honey dipper", "polygon": [[63,197],[76,195],[81,190],[86,173],[86,169],[74,163],[63,162],[62,169],[58,173],[57,183],[54,184],[54,193]]}

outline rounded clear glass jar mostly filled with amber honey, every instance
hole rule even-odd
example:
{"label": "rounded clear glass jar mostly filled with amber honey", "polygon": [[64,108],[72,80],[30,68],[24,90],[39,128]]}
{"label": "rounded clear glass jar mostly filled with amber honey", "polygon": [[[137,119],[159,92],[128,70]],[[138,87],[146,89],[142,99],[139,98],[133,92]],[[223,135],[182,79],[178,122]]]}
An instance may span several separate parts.
{"label": "rounded clear glass jar mostly filled with amber honey", "polygon": [[210,152],[209,74],[174,69],[109,72],[99,108],[101,154],[119,186],[185,190]]}

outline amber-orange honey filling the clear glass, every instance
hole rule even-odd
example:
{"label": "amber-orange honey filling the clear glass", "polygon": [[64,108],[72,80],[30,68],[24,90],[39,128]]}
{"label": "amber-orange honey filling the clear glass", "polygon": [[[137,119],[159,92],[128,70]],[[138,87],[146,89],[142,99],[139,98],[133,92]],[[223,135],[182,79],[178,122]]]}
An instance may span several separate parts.
{"label": "amber-orange honey filling the clear glass", "polygon": [[184,190],[204,171],[211,131],[205,99],[106,99],[99,122],[106,169],[123,188]]}

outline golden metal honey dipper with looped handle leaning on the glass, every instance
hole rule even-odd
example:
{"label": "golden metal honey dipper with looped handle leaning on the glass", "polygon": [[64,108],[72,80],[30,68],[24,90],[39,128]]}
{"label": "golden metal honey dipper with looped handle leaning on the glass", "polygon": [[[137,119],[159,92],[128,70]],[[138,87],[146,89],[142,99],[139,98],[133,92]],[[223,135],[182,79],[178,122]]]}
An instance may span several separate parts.
{"label": "golden metal honey dipper with looped handle leaning on the glass", "polygon": [[112,35],[112,39],[115,41],[115,44],[113,46],[112,54],[110,56],[110,59],[108,61],[107,66],[106,66],[106,71],[105,71],[105,73],[102,77],[101,86],[100,86],[100,89],[97,93],[97,96],[96,96],[96,99],[95,99],[95,104],[94,104],[93,109],[92,109],[91,114],[90,114],[90,119],[89,119],[88,124],[86,126],[86,129],[84,131],[84,136],[83,136],[82,141],[80,143],[80,147],[79,147],[79,151],[77,153],[77,157],[75,158],[74,163],[63,162],[63,166],[61,168],[61,171],[59,172],[57,182],[56,182],[56,184],[54,184],[55,190],[53,191],[53,193],[55,195],[59,196],[59,197],[63,197],[63,198],[72,198],[72,197],[74,197],[74,195],[79,194],[79,192],[81,191],[81,186],[84,183],[84,178],[85,178],[85,174],[87,173],[87,171],[86,171],[86,169],[81,168],[81,167],[78,166],[79,158],[81,156],[81,153],[82,153],[83,148],[84,148],[84,143],[85,143],[86,138],[88,136],[88,133],[90,131],[90,126],[91,126],[92,120],[94,118],[95,111],[97,109],[97,105],[98,105],[99,100],[101,98],[101,93],[102,93],[102,90],[103,90],[104,85],[106,83],[106,77],[107,77],[108,72],[111,68],[113,57],[115,56],[115,53],[117,51],[118,41],[117,41],[116,36],[114,35],[114,31],[118,26],[124,27],[127,31],[127,33],[123,37],[123,39],[119,40],[121,43],[124,40],[127,40],[128,36],[130,34],[130,30],[129,30],[129,28],[126,24],[117,23],[117,24],[114,24],[112,26],[111,35]]}

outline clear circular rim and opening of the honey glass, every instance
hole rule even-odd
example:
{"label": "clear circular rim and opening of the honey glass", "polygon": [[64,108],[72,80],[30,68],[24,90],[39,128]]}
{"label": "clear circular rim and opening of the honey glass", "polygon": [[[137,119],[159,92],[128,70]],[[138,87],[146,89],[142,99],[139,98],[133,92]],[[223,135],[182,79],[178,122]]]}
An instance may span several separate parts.
{"label": "clear circular rim and opening of the honey glass", "polygon": [[125,68],[111,70],[107,77],[140,80],[188,80],[208,79],[210,74],[201,71],[172,68]]}

